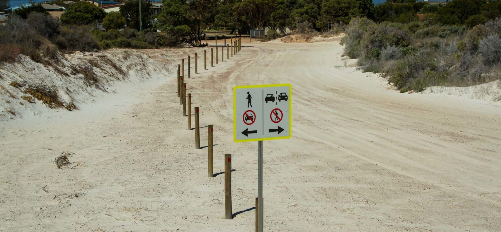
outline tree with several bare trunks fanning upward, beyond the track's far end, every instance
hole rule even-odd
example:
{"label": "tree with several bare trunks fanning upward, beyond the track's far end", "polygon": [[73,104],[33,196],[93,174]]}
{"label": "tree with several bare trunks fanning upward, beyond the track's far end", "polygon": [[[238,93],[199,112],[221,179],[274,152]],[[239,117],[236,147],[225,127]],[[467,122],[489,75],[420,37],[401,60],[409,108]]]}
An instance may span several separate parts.
{"label": "tree with several bare trunks fanning upward, beyond the track's far end", "polygon": [[238,16],[254,29],[262,29],[274,10],[274,0],[243,0],[235,5]]}

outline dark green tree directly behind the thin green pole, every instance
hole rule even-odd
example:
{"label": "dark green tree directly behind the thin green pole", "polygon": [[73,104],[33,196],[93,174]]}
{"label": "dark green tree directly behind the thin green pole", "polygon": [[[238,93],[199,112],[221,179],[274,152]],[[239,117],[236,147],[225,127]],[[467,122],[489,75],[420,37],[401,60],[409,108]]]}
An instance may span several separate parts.
{"label": "dark green tree directly behind the thin green pole", "polygon": [[[141,1],[141,22],[143,30],[151,28],[151,3],[147,1]],[[123,6],[120,6],[120,14],[125,18],[125,22],[128,28],[134,28],[139,30],[139,2],[129,1]]]}

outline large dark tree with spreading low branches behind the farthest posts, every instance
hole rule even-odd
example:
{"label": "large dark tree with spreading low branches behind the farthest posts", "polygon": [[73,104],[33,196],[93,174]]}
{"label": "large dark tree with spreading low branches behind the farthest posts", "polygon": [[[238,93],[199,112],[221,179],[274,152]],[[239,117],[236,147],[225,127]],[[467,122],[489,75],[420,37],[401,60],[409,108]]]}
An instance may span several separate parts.
{"label": "large dark tree with spreading low branches behind the farthest posts", "polygon": [[218,0],[163,0],[157,28],[179,38],[181,43],[200,46],[202,31],[214,23]]}

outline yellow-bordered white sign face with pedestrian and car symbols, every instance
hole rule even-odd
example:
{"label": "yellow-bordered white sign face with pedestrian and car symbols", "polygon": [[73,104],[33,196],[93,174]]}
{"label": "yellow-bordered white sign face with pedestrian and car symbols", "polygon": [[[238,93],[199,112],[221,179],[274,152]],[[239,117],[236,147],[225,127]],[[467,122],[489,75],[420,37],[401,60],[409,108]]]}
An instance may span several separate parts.
{"label": "yellow-bordered white sign face with pedestrian and car symbols", "polygon": [[235,142],[291,137],[290,84],[235,86],[233,140]]}

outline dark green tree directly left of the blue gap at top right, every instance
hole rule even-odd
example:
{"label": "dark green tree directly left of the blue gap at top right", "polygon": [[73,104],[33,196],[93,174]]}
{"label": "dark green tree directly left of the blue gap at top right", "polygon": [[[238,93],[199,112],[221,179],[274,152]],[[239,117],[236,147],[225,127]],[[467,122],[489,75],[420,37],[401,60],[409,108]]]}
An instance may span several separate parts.
{"label": "dark green tree directly left of the blue gap at top right", "polygon": [[327,0],[321,6],[321,16],[317,27],[327,28],[327,23],[348,24],[352,18],[374,17],[371,0]]}

